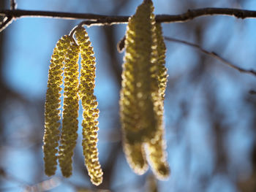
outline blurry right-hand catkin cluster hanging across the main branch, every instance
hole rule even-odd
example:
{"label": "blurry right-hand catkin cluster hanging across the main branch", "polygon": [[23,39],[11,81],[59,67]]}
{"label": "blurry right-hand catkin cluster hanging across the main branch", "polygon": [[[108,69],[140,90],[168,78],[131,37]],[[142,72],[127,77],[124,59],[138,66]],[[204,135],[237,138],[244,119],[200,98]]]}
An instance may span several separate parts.
{"label": "blurry right-hand catkin cluster hanging across the main branch", "polygon": [[[164,141],[164,99],[167,82],[162,28],[151,1],[143,1],[127,26],[120,99],[124,153],[137,174],[148,163],[159,179],[170,174]],[[148,161],[146,158],[148,156]]]}

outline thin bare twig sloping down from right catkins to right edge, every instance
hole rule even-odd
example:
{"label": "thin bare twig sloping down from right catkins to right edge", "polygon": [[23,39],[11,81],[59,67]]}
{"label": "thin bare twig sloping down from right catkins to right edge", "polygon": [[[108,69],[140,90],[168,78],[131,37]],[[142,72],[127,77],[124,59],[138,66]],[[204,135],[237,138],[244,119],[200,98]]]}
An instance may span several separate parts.
{"label": "thin bare twig sloping down from right catkins to right edge", "polygon": [[236,69],[238,70],[239,72],[242,72],[242,73],[246,73],[246,74],[252,74],[252,75],[255,75],[256,76],[256,71],[253,70],[253,69],[250,69],[250,70],[246,70],[246,69],[243,69],[239,66],[236,66],[234,64],[231,64],[229,61],[227,61],[225,58],[222,58],[221,56],[219,56],[217,53],[214,53],[214,52],[209,52],[208,50],[205,50],[203,49],[202,47],[200,47],[200,45],[196,45],[194,43],[191,43],[191,42],[186,42],[184,40],[180,40],[180,39],[174,39],[174,38],[171,38],[171,37],[165,37],[165,40],[167,41],[171,41],[171,42],[178,42],[178,43],[182,43],[184,45],[189,45],[190,47],[195,47],[197,48],[197,50],[200,50],[201,52],[203,53],[206,53],[206,55],[209,55],[213,58],[217,58],[219,61],[222,61],[223,64],[226,64],[227,66],[230,66],[232,67],[233,69]]}

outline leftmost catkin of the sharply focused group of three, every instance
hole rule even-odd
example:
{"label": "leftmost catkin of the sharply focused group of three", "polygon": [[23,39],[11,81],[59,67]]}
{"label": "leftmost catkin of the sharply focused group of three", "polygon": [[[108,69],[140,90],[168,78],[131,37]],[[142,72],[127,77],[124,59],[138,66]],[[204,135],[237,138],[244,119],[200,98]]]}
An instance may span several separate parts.
{"label": "leftmost catkin of the sharply focused group of three", "polygon": [[45,135],[44,135],[44,161],[45,174],[48,176],[55,174],[57,165],[58,142],[59,142],[59,120],[61,107],[61,84],[62,68],[65,53],[69,47],[69,37],[64,36],[56,43],[53,55],[50,60],[50,69],[48,74],[48,89],[45,99]]}

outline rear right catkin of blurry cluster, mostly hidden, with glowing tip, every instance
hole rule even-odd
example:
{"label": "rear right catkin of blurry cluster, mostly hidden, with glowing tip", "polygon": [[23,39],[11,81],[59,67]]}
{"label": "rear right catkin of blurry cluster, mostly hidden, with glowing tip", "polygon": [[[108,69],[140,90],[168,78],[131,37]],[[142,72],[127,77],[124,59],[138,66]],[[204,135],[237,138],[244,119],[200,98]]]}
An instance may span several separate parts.
{"label": "rear right catkin of blurry cluster, mostly hidden, with glowing tip", "polygon": [[167,163],[167,155],[165,152],[166,144],[164,140],[164,125],[163,125],[163,114],[164,114],[164,99],[165,99],[165,88],[167,83],[167,69],[165,68],[165,42],[162,37],[162,27],[157,23],[157,63],[158,63],[158,85],[159,85],[159,111],[158,111],[158,129],[159,137],[152,139],[148,142],[147,152],[148,160],[150,161],[151,167],[154,174],[158,179],[164,180],[170,174],[170,168]]}

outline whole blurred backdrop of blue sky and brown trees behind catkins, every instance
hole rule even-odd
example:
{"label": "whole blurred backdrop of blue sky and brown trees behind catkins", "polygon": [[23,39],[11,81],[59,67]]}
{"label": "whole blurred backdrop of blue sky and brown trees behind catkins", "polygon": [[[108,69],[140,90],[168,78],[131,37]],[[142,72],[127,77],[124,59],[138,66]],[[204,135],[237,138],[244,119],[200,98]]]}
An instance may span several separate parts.
{"label": "whole blurred backdrop of blue sky and brown trees behind catkins", "polygon": [[[253,0],[153,0],[155,14],[187,9],[256,9]],[[132,15],[142,0],[17,0],[18,9]],[[8,0],[0,9],[9,9]],[[50,55],[79,20],[22,18],[0,34],[0,191],[256,191],[256,77],[242,74],[195,48],[166,41],[168,82],[165,139],[171,176],[129,169],[121,148],[118,99],[124,53],[116,44],[126,25],[92,26],[97,58],[99,161],[104,180],[91,185],[84,166],[81,127],[72,177],[46,177],[42,137]],[[255,19],[225,16],[163,24],[165,37],[193,42],[244,69],[255,69]],[[81,110],[79,121],[81,123]]]}

